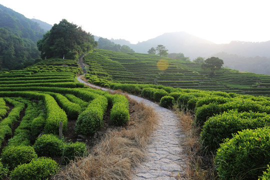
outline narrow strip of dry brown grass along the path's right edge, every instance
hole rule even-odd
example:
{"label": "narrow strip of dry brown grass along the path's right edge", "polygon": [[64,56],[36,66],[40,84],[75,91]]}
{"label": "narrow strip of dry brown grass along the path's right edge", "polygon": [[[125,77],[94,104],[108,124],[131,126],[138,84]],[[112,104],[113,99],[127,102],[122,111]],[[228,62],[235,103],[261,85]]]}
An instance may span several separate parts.
{"label": "narrow strip of dry brown grass along the path's right edge", "polygon": [[188,179],[194,180],[214,180],[216,171],[213,164],[213,155],[205,154],[201,149],[199,141],[200,127],[194,124],[194,115],[192,112],[175,110],[180,117],[180,124],[185,133],[183,142],[187,151],[187,169]]}

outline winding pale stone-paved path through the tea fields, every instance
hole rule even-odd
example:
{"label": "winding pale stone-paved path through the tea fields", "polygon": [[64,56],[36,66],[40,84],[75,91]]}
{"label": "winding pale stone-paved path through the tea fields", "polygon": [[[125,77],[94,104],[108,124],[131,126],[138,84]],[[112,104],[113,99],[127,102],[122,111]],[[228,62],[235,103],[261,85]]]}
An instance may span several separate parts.
{"label": "winding pale stone-paved path through the tea fields", "polygon": [[[81,76],[77,77],[79,82],[98,87],[83,81],[80,78]],[[106,88],[100,89],[109,90]],[[147,99],[135,95],[128,96],[137,102],[152,107],[158,117],[157,128],[149,137],[150,143],[146,147],[147,155],[145,155],[144,161],[134,169],[135,173],[132,179],[185,179],[186,154],[179,144],[184,140],[184,134],[178,125],[179,119],[176,114]]]}

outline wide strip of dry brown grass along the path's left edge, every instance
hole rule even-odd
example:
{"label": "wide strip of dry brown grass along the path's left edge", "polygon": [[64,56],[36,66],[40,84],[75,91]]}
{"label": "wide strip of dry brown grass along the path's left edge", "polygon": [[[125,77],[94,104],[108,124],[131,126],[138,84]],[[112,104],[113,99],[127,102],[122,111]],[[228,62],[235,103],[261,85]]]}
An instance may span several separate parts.
{"label": "wide strip of dry brown grass along the path's left edge", "polygon": [[130,179],[132,167],[141,162],[144,146],[156,124],[153,110],[133,103],[130,121],[120,131],[110,131],[90,155],[71,161],[52,179]]}

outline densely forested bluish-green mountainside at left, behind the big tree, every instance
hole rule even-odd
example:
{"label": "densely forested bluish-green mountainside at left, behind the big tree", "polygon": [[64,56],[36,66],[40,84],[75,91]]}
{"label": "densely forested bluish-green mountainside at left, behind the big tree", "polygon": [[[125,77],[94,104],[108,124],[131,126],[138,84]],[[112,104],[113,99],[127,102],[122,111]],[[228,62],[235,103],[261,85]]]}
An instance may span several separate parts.
{"label": "densely forested bluish-green mountainside at left, behind the big tree", "polygon": [[22,14],[0,5],[0,70],[20,69],[39,57],[36,41],[45,30]]}

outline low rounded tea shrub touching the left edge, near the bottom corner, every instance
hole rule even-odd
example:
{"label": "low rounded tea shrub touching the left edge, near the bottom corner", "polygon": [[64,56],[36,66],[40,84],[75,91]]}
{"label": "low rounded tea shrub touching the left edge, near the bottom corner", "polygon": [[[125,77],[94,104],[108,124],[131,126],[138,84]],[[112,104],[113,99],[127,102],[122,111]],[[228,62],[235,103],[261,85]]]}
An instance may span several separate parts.
{"label": "low rounded tea shrub touching the left edge, near the bottom corner", "polygon": [[37,155],[32,146],[17,145],[6,146],[1,153],[1,162],[8,165],[9,169],[15,168],[20,163],[29,163]]}

